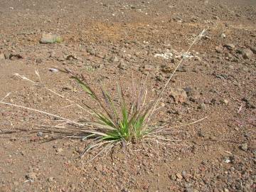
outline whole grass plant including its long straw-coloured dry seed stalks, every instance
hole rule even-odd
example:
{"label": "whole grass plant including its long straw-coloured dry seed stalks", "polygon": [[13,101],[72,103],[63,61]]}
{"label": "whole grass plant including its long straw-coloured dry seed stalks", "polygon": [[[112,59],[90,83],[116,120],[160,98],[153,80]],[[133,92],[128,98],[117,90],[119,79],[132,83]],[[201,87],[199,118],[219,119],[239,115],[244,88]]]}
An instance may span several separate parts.
{"label": "whole grass plant including its long straw-coloured dry seed stalks", "polygon": [[[79,127],[79,130],[82,130],[82,135],[79,134],[79,136],[75,135],[69,137],[80,137],[82,140],[90,139],[91,141],[90,144],[86,146],[81,156],[85,155],[90,150],[100,149],[100,151],[96,155],[98,156],[103,152],[109,151],[116,144],[126,145],[139,141],[157,141],[158,143],[177,142],[178,140],[174,137],[171,137],[171,135],[169,134],[170,128],[156,126],[152,124],[152,119],[154,119],[154,115],[159,109],[159,101],[161,100],[161,97],[166,90],[166,87],[169,84],[171,78],[173,78],[176,70],[178,70],[178,68],[180,67],[183,59],[186,58],[186,55],[191,50],[193,44],[196,43],[196,41],[198,41],[204,35],[204,33],[205,31],[203,30],[194,39],[193,43],[191,43],[191,46],[189,46],[186,53],[184,53],[183,58],[181,58],[178,65],[176,65],[175,70],[173,71],[173,73],[171,73],[169,79],[164,84],[159,95],[156,97],[155,100],[151,102],[147,100],[147,77],[145,78],[143,85],[141,85],[140,87],[137,87],[135,83],[132,82],[133,97],[131,102],[127,101],[127,98],[125,97],[122,90],[122,86],[120,85],[120,83],[118,83],[116,90],[119,101],[115,102],[112,99],[110,93],[105,90],[105,87],[100,85],[101,94],[97,95],[92,85],[87,82],[86,78],[83,75],[73,73],[73,71],[65,68],[57,70],[70,75],[70,78],[78,82],[82,90],[84,90],[85,93],[89,95],[91,100],[97,105],[97,107],[92,107],[85,102],[83,103],[84,106],[78,105],[78,107],[81,107],[82,109],[85,109],[90,114],[92,114],[92,119],[90,119],[90,121],[76,122],[55,114],[43,112],[41,110],[35,110],[28,107],[4,102],[4,99],[9,95],[6,95],[6,97],[0,100],[0,103],[4,105],[11,105],[14,107],[21,107],[26,110],[33,110],[35,112],[41,112],[43,114],[48,114],[53,117],[63,119],[69,124],[75,124]],[[38,73],[36,74],[38,75]],[[36,82],[33,82],[28,78],[25,78],[21,75],[19,76],[25,80],[32,82],[33,84],[36,84]],[[39,75],[38,77],[40,78]],[[58,95],[59,97],[63,97],[62,95],[58,94],[57,92],[53,92],[53,90],[50,90],[47,87],[44,88],[54,93],[55,95]],[[201,120],[202,119],[196,122],[199,122]],[[192,122],[190,124],[196,122]],[[93,159],[95,159],[96,156],[94,156]]]}

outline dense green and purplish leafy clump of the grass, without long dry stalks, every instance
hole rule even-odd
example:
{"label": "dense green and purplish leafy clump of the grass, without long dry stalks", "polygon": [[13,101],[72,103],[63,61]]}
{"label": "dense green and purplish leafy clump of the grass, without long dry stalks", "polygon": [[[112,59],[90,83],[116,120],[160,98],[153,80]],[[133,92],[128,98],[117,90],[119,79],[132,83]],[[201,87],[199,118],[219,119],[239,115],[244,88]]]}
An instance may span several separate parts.
{"label": "dense green and purplish leafy clump of the grass, without long dry stalks", "polygon": [[[147,95],[146,80],[139,89],[133,87],[133,90],[138,90],[138,94],[134,95],[131,105],[127,105],[122,86],[120,83],[117,84],[119,107],[116,107],[109,92],[102,85],[100,85],[101,95],[97,95],[83,75],[75,74],[67,68],[58,70],[70,75],[70,78],[78,82],[82,90],[99,106],[98,109],[95,109],[84,103],[95,120],[85,122],[92,128],[85,129],[86,136],[82,139],[94,140],[85,148],[82,155],[91,149],[102,146],[102,144],[113,146],[123,142],[138,142],[154,130],[150,126],[149,120],[154,105],[145,105]],[[134,83],[132,85],[134,86]]]}

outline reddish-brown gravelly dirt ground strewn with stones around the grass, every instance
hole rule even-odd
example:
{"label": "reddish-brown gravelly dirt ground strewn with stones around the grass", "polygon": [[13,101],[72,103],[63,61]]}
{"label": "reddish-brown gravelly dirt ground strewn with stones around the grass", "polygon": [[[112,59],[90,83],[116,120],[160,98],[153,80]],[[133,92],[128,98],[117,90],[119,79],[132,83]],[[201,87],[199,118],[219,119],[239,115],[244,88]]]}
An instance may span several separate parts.
{"label": "reddish-brown gravelly dirt ground strewn with stones around the grass", "polygon": [[[0,104],[0,191],[255,191],[255,0],[1,0],[0,100],[11,92],[4,102],[87,117],[67,99],[90,101],[52,67],[112,94],[119,78],[128,89],[149,72],[153,98],[203,28],[156,117],[179,142],[117,147],[87,164],[93,152],[77,157],[89,141],[54,139],[59,118]],[[63,42],[40,43],[43,33]]]}

